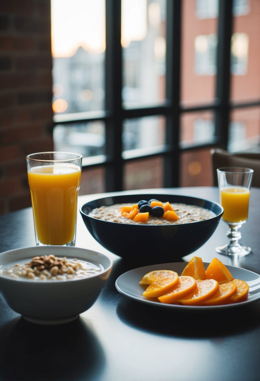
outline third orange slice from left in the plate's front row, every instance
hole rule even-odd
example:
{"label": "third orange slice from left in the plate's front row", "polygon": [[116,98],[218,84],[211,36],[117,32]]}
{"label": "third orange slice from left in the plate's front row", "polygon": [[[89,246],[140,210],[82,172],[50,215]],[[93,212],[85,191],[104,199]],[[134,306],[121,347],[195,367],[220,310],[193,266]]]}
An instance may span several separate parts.
{"label": "third orange slice from left in the plate's front row", "polygon": [[212,298],[219,290],[219,285],[215,279],[196,280],[197,288],[193,294],[184,299],[180,299],[179,303],[186,306],[201,306],[206,300]]}

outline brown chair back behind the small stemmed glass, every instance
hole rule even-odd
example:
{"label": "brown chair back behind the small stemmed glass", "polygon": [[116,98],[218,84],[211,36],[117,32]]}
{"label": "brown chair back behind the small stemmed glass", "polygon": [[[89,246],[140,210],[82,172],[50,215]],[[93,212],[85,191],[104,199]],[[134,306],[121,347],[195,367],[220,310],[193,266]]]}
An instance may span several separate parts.
{"label": "brown chair back behind the small stemmed glass", "polygon": [[224,149],[212,148],[210,156],[214,186],[218,186],[217,168],[223,166],[241,166],[254,170],[252,187],[260,187],[260,154],[231,154]]}

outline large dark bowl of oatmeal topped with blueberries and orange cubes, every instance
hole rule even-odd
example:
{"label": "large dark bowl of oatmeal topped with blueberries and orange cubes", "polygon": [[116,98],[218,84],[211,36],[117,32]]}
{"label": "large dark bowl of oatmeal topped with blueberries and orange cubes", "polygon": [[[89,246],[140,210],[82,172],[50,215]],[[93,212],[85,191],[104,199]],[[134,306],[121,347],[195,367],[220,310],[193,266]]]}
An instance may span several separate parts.
{"label": "large dark bowl of oatmeal topped with blueberries and orange cubes", "polygon": [[80,207],[90,234],[128,260],[175,261],[201,247],[218,226],[214,201],[170,194],[107,195]]}

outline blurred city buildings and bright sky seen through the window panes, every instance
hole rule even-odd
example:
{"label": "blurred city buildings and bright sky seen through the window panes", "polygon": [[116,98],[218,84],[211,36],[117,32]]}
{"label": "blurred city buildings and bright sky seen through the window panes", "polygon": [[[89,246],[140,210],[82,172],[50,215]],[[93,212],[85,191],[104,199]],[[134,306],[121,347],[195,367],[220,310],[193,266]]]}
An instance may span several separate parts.
{"label": "blurred city buildings and bright sky seen through the window panes", "polygon": [[[122,106],[125,109],[151,107],[165,101],[166,1],[122,0]],[[215,98],[218,0],[184,0],[182,5],[181,104],[210,104]],[[51,0],[51,7],[55,115],[104,110],[105,0]],[[260,35],[260,2],[234,0],[233,14],[231,98],[239,102],[254,101],[260,98],[257,73],[260,43],[255,38]],[[259,144],[259,118],[259,107],[232,112],[228,136],[231,152]],[[210,142],[216,133],[214,114],[211,111],[183,113],[180,132],[181,147]],[[53,137],[56,150],[80,152],[84,157],[105,152],[102,121],[69,125],[60,122]],[[125,157],[131,150],[141,152],[163,144],[164,117],[124,120]],[[206,151],[182,155],[181,185],[210,185],[209,176],[205,176],[209,165],[203,167],[205,157],[209,157],[209,150]],[[160,159],[154,161],[160,167]],[[154,170],[154,163],[145,168],[146,185],[159,187],[160,176],[155,182],[147,173]],[[140,188],[136,171],[135,165],[130,171],[126,169],[126,189]]]}

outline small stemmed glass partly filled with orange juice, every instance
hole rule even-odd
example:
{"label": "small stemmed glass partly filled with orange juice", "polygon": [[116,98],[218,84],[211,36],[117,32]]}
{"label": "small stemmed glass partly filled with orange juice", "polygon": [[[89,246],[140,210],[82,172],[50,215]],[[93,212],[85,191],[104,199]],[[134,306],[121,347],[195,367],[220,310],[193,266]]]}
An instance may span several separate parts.
{"label": "small stemmed glass partly filled with orange juice", "polygon": [[222,167],[217,169],[220,203],[224,208],[223,221],[228,224],[226,233],[230,242],[216,248],[220,254],[244,256],[251,253],[251,248],[241,246],[239,231],[248,218],[250,187],[254,171],[243,167]]}

